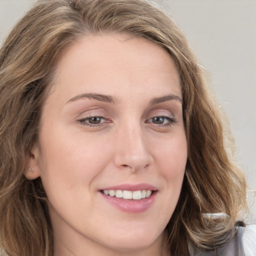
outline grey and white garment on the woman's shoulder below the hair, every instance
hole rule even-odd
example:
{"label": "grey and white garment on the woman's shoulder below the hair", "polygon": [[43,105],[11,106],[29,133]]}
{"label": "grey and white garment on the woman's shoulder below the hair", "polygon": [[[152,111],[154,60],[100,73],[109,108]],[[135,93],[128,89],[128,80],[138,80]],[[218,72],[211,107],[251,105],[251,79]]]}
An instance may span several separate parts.
{"label": "grey and white garment on the woman's shoulder below the hair", "polygon": [[[246,235],[244,235],[246,229]],[[243,237],[245,236],[245,237]],[[190,256],[255,256],[256,225],[238,226],[235,236],[225,246],[209,251],[189,245]],[[247,253],[245,254],[246,251]]]}

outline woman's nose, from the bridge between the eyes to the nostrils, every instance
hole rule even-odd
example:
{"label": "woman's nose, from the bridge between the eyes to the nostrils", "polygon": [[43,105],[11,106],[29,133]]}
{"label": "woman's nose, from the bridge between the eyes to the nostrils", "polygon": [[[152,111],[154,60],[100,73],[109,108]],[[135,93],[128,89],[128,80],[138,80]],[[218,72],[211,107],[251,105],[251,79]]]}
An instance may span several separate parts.
{"label": "woman's nose, from the bridge between the eyes to the nostrils", "polygon": [[140,125],[129,125],[119,129],[114,143],[114,163],[118,168],[139,171],[146,169],[153,162],[149,141]]}

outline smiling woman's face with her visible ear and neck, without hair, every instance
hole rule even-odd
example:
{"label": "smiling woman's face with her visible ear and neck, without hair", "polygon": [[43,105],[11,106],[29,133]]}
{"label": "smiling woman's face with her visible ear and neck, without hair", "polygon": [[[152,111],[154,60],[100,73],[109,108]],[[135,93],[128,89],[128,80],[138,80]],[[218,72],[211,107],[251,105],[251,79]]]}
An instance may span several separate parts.
{"label": "smiling woman's face with her visible ear and neck, without hair", "polygon": [[172,59],[144,38],[91,35],[61,53],[53,80],[25,175],[41,177],[55,246],[156,253],[187,159]]}

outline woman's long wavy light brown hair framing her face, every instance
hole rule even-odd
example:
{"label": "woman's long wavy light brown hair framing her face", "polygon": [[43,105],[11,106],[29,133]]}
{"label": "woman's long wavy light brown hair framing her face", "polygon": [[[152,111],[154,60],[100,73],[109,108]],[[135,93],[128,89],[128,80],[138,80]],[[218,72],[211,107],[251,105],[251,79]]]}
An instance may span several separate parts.
{"label": "woman's long wavy light brown hair framing her face", "polygon": [[[39,0],[0,49],[0,248],[8,256],[53,255],[45,194],[40,178],[24,177],[26,159],[59,51],[81,36],[111,31],[154,41],[180,73],[188,159],[165,230],[171,254],[187,255],[188,242],[221,246],[242,219],[245,180],[224,144],[228,126],[175,21],[146,0]],[[216,212],[225,214],[207,214]]]}

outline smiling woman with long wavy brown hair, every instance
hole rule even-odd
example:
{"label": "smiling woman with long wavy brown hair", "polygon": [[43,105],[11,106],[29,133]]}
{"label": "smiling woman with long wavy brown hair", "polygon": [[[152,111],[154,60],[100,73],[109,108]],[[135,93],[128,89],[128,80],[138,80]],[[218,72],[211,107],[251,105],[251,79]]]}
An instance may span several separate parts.
{"label": "smiling woman with long wavy brown hair", "polygon": [[0,50],[2,253],[243,255],[203,73],[147,1],[38,1]]}

